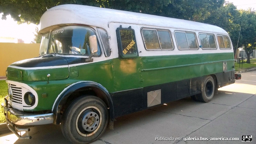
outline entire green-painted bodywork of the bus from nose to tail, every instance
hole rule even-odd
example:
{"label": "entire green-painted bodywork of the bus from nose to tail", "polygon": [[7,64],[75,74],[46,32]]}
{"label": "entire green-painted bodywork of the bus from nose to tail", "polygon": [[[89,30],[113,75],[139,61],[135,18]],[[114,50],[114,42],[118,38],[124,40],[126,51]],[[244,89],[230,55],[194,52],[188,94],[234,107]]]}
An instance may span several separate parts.
{"label": "entire green-painted bodywork of the bus from nose to tail", "polygon": [[[230,52],[151,56],[122,60],[115,58],[70,67],[71,74],[68,78],[66,72],[69,70],[67,68],[41,69],[39,73],[37,70],[20,70],[9,67],[8,69],[22,71],[23,81],[15,80],[12,77],[8,77],[8,80],[23,82],[32,87],[38,94],[38,105],[31,111],[42,111],[51,110],[58,95],[75,82],[97,82],[104,86],[109,93],[113,93],[220,73],[223,71],[223,61],[227,62],[227,70],[233,70],[234,56]],[[64,78],[67,79],[51,79],[55,78],[55,76],[52,77],[52,74],[59,73],[63,73]],[[47,74],[51,74],[48,84]],[[43,93],[47,93],[47,97],[43,98]]]}

